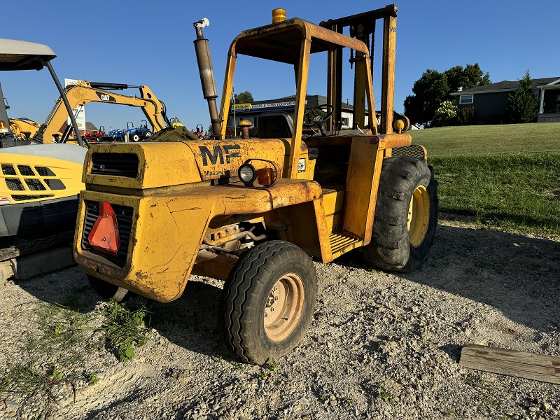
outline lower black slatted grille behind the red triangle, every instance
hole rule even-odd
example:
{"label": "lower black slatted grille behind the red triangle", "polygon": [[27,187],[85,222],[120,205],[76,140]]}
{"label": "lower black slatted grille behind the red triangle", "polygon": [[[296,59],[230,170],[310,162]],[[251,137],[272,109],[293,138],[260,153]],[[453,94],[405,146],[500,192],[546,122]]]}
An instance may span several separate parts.
{"label": "lower black slatted grille behind the red triangle", "polygon": [[85,218],[83,222],[83,235],[82,235],[82,249],[96,255],[101,255],[103,258],[113,262],[119,267],[124,267],[127,262],[128,245],[130,242],[130,230],[132,230],[132,215],[134,211],[132,207],[118,206],[111,204],[113,211],[117,216],[118,234],[120,237],[120,248],[118,248],[117,256],[109,255],[108,253],[100,253],[92,248],[87,237],[90,236],[93,225],[99,217],[99,202],[85,201]]}

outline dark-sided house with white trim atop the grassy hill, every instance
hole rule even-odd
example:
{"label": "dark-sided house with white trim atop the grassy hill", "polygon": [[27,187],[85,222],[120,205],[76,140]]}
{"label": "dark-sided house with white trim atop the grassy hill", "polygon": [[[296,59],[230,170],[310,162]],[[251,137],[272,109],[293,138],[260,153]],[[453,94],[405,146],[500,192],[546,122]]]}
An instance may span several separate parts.
{"label": "dark-sided house with white trim atop the grassy hill", "polygon": [[[465,90],[459,87],[457,92],[451,93],[451,96],[456,97],[459,108],[474,106],[478,123],[500,124],[506,122],[507,98],[518,87],[519,81],[503,80]],[[540,99],[538,123],[560,122],[560,77],[535,79],[532,87]]]}

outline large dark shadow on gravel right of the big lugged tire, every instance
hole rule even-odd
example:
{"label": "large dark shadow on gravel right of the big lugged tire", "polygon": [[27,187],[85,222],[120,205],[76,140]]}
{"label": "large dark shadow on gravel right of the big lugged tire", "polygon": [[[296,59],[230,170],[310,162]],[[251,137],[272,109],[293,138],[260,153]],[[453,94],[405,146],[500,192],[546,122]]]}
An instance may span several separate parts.
{"label": "large dark shadow on gravel right of the big lugged tire", "polygon": [[489,304],[540,332],[560,329],[560,242],[440,225],[423,267],[397,275]]}

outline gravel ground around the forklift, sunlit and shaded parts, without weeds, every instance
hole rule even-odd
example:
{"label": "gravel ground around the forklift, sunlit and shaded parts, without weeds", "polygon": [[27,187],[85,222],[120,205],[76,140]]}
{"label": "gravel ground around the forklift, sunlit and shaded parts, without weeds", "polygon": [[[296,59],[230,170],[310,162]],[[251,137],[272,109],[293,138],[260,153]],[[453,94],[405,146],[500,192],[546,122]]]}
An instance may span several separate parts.
{"label": "gravel ground around the forklift, sunlit and shaded parts, without weeds", "polygon": [[[132,361],[93,353],[97,384],[52,387],[54,419],[559,419],[560,385],[469,370],[466,344],[560,356],[560,239],[441,222],[412,274],[346,255],[316,263],[318,304],[292,353],[238,363],[218,337],[223,282],[193,276],[152,304],[150,339]],[[107,303],[78,267],[0,285],[0,363],[25,358],[37,302]],[[41,400],[0,394],[0,419],[34,419]]]}

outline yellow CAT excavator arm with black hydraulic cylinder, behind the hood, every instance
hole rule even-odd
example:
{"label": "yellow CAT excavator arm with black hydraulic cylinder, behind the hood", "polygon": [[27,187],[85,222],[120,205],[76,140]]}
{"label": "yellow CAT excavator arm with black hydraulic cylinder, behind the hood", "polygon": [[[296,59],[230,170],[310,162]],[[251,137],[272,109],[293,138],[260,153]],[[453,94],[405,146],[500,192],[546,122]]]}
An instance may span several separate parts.
{"label": "yellow CAT excavator arm with black hydraulic cylinder, behind the hood", "polygon": [[[167,125],[164,120],[163,105],[148,86],[134,86],[139,88],[140,97],[132,97],[102,90],[103,88],[126,89],[128,87],[133,86],[116,83],[90,83],[84,80],[78,80],[77,85],[66,88],[66,97],[72,109],[76,109],[77,106],[89,104],[90,102],[137,106],[144,112],[146,120],[152,125],[153,132],[165,129]],[[45,123],[43,123],[36,134],[34,134],[34,139],[36,141],[42,141],[43,143],[51,143],[54,135],[59,132],[60,127],[62,127],[66,121],[66,118],[68,118],[68,113],[66,113],[62,99],[59,98],[50,111]]]}

